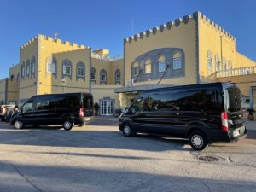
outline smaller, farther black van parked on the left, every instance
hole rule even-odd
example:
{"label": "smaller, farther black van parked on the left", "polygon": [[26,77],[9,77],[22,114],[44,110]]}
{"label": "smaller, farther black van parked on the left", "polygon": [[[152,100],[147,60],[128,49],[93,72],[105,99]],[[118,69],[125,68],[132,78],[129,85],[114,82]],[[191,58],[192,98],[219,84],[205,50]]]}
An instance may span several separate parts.
{"label": "smaller, farther black van parked on the left", "polygon": [[93,97],[89,93],[65,93],[32,96],[20,113],[10,119],[15,129],[26,125],[63,125],[71,130],[73,125],[84,125],[94,119]]}

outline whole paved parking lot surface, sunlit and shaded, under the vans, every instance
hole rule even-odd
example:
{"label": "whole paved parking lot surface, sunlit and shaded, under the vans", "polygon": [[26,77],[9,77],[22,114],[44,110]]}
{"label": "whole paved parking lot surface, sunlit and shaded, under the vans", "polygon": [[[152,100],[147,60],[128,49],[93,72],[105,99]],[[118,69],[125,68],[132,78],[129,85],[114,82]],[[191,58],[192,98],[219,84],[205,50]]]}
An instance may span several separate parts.
{"label": "whole paved parking lot surface, sunlit and shaded, under the vans", "polygon": [[213,143],[196,152],[182,139],[123,137],[117,125],[106,117],[72,131],[14,130],[0,123],[0,191],[256,189],[253,129],[239,143]]}

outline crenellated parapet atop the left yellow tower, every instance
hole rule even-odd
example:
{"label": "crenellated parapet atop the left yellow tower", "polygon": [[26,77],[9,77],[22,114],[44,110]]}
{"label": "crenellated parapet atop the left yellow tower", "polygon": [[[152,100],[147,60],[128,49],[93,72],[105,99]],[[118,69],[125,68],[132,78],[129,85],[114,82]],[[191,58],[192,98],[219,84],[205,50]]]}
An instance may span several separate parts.
{"label": "crenellated parapet atop the left yellow tower", "polygon": [[28,42],[26,42],[26,44],[21,45],[21,49],[26,48],[27,46],[29,46],[30,44],[32,44],[33,42],[37,41],[38,39],[42,39],[44,41],[48,41],[50,43],[55,43],[55,44],[62,44],[62,45],[67,45],[73,48],[78,48],[78,49],[90,49],[90,47],[86,47],[83,44],[76,44],[76,43],[71,43],[69,41],[63,41],[60,38],[52,38],[49,36],[45,36],[45,35],[41,35],[38,34],[38,36],[30,39]]}

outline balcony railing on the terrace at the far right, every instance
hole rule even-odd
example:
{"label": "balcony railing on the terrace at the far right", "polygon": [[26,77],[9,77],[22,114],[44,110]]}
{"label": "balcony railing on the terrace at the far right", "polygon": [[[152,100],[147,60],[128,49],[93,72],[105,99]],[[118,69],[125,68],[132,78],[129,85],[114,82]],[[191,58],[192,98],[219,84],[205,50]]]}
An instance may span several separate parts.
{"label": "balcony railing on the terrace at the far right", "polygon": [[223,71],[218,71],[216,74],[217,78],[226,78],[233,77],[239,75],[247,75],[247,74],[256,74],[256,66],[255,67],[241,67],[241,68],[233,68]]}

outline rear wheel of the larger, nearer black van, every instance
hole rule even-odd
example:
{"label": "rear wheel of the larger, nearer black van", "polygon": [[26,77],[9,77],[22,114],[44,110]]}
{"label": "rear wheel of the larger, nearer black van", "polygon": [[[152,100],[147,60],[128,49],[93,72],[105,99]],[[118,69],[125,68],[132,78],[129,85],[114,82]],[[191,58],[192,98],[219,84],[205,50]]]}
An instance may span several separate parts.
{"label": "rear wheel of the larger, nearer black van", "polygon": [[208,145],[207,136],[202,131],[193,131],[189,134],[189,144],[195,150],[203,150]]}

